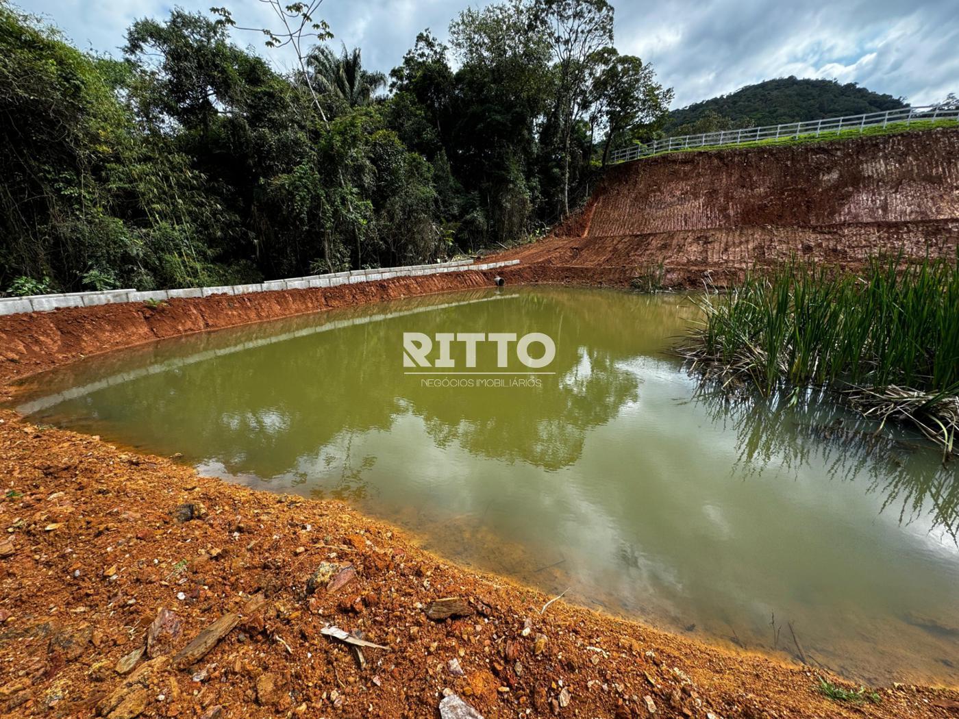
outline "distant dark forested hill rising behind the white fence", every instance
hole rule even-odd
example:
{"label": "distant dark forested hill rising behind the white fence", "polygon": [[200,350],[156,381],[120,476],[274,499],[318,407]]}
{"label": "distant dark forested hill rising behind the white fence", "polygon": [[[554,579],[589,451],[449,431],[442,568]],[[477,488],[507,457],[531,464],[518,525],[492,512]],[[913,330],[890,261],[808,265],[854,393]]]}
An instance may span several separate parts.
{"label": "distant dark forested hill rising behind the white fence", "polygon": [[778,78],[746,85],[729,95],[673,110],[665,129],[669,134],[684,133],[677,130],[712,132],[858,115],[904,106],[902,98],[872,92],[855,82],[840,84],[834,80]]}

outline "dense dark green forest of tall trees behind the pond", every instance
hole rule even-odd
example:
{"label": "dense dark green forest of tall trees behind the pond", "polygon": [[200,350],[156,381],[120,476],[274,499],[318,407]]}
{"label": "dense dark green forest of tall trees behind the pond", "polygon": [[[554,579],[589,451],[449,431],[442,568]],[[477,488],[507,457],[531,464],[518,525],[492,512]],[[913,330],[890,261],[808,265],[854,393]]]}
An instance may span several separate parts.
{"label": "dense dark green forest of tall trees behind the pond", "polygon": [[449,47],[426,31],[388,76],[336,44],[316,0],[272,5],[274,28],[225,9],[140,19],[113,58],[0,0],[0,290],[255,282],[508,243],[566,216],[672,96],[617,52],[606,0],[461,12]]}

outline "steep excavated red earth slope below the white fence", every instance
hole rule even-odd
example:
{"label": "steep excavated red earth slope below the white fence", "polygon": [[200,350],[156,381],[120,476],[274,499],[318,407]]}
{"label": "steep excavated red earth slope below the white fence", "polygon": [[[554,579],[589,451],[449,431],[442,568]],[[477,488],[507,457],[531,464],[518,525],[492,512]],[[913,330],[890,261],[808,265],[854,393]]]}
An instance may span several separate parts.
{"label": "steep excavated red earth slope below the white fence", "polygon": [[722,283],[792,256],[854,267],[879,253],[959,244],[959,129],[681,152],[608,170],[552,235],[497,255],[622,283],[662,264],[667,284]]}

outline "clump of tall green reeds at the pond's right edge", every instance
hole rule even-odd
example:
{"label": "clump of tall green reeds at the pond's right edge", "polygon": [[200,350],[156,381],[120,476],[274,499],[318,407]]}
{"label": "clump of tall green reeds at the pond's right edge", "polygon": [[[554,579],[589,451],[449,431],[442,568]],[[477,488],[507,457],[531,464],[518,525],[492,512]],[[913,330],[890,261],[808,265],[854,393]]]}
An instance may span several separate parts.
{"label": "clump of tall green reeds at the pond's right edge", "polygon": [[685,354],[761,392],[827,386],[953,450],[959,429],[959,257],[873,260],[860,273],[790,263],[702,301]]}

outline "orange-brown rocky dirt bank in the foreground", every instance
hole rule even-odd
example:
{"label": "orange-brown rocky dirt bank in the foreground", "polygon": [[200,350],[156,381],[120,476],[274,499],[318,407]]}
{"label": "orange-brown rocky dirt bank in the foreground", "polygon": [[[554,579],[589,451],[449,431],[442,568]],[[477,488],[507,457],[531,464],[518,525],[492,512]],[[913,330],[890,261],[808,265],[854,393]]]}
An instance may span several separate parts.
{"label": "orange-brown rocky dirt bank in the foreground", "polygon": [[912,685],[837,703],[805,667],[550,602],[339,502],[12,411],[0,481],[7,715],[959,715],[959,693]]}

